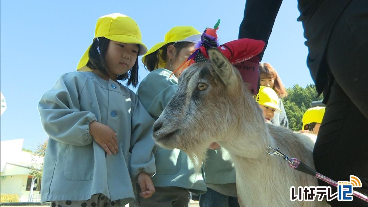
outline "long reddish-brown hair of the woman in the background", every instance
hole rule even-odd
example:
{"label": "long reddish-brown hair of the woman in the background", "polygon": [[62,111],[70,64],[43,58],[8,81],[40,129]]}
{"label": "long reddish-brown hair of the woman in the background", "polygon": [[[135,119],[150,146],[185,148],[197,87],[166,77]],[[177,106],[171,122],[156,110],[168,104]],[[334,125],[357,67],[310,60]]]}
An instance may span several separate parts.
{"label": "long reddish-brown hair of the woman in the background", "polygon": [[279,98],[287,97],[287,92],[284,85],[281,82],[276,70],[269,63],[259,63],[259,77],[260,78],[273,78],[275,83],[273,84],[273,90],[275,90]]}

